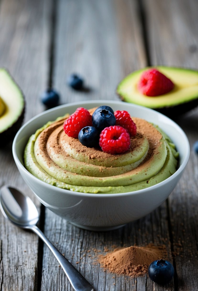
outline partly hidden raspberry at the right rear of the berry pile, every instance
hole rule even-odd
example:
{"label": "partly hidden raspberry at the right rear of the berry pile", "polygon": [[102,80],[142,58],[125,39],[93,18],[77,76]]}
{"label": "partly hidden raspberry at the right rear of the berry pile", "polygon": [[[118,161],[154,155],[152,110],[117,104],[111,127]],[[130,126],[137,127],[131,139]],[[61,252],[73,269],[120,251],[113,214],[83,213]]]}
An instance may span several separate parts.
{"label": "partly hidden raspberry at the right rear of the berry pile", "polygon": [[127,129],[130,136],[136,135],[136,124],[133,122],[130,114],[127,111],[117,110],[114,112],[114,115],[116,117],[116,125],[120,125]]}

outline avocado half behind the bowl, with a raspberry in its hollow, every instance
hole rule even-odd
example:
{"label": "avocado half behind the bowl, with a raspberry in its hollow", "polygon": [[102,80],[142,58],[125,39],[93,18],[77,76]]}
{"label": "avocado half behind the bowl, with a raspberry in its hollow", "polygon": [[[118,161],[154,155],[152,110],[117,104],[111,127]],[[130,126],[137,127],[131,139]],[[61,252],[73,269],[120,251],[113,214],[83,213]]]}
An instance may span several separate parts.
{"label": "avocado half behind the bowl, with a raspberry in its hollow", "polygon": [[[168,77],[174,83],[174,88],[169,93],[155,97],[140,93],[137,83],[141,74],[149,68],[156,68]],[[125,102],[149,107],[175,117],[198,105],[198,71],[165,66],[147,67],[125,77],[118,84],[116,92]]]}

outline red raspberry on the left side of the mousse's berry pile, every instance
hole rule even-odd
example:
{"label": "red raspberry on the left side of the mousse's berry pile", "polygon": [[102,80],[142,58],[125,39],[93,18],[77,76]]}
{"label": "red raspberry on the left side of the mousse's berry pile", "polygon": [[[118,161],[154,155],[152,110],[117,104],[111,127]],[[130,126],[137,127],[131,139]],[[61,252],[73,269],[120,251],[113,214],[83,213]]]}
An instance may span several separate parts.
{"label": "red raspberry on the left side of the mousse's berry pile", "polygon": [[79,107],[65,120],[63,129],[68,136],[77,138],[80,130],[89,125],[92,125],[89,111]]}

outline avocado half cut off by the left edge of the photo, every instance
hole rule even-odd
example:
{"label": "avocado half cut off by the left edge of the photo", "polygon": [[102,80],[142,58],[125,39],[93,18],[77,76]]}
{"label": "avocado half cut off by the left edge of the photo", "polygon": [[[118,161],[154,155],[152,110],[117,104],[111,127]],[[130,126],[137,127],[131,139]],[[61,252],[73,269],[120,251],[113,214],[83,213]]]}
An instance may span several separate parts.
{"label": "avocado half cut off by the left edge of the photo", "polygon": [[12,140],[21,127],[25,100],[8,71],[0,68],[0,146]]}

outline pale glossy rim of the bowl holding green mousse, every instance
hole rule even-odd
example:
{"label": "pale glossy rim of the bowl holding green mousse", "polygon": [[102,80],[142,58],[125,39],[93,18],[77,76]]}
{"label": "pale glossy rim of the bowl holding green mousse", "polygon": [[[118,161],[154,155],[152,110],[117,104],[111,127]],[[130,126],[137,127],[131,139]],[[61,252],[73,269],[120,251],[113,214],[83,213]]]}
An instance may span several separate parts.
{"label": "pale glossy rim of the bowl holding green mousse", "polygon": [[[59,109],[62,109],[64,107],[70,107],[70,106],[78,106],[79,105],[85,105],[85,104],[96,104],[98,105],[98,103],[109,103],[109,104],[122,104],[123,102],[122,101],[119,101],[119,100],[86,100],[86,101],[78,101],[78,102],[71,102],[71,103],[67,103],[67,104],[62,104],[60,106],[57,106],[57,107],[54,107],[54,108],[51,108],[51,109],[48,109],[46,111],[43,111],[39,114],[37,114],[36,116],[34,116],[33,118],[31,118],[30,120],[28,120],[24,125],[22,125],[22,127],[18,130],[17,134],[15,135],[15,138],[13,140],[13,143],[12,143],[12,154],[13,154],[13,157],[14,157],[14,160],[15,160],[15,163],[21,168],[21,170],[23,172],[25,172],[27,175],[29,175],[31,178],[35,179],[38,183],[42,184],[43,187],[47,187],[49,189],[54,189],[52,187],[55,187],[56,191],[62,193],[62,194],[72,194],[72,195],[75,195],[75,196],[84,196],[84,197],[94,197],[94,198],[109,198],[109,197],[119,197],[119,196],[130,196],[130,195],[138,195],[138,194],[141,194],[145,191],[152,191],[152,189],[158,189],[158,188],[161,188],[163,187],[165,184],[168,184],[171,180],[173,180],[177,175],[179,175],[179,173],[181,173],[184,168],[186,167],[186,164],[188,163],[188,159],[189,159],[189,156],[190,156],[190,144],[189,144],[189,141],[188,141],[188,138],[185,134],[185,132],[183,131],[183,129],[177,124],[175,123],[172,119],[170,119],[169,117],[165,116],[164,114],[158,112],[158,111],[155,111],[153,109],[150,109],[150,108],[147,108],[147,107],[143,107],[141,105],[137,105],[137,104],[133,104],[133,103],[127,103],[127,102],[124,102],[126,104],[128,104],[129,106],[132,106],[132,107],[135,107],[135,108],[141,108],[142,110],[145,110],[145,111],[152,111],[154,112],[155,114],[159,115],[159,116],[163,116],[163,118],[169,120],[169,122],[171,122],[174,127],[176,127],[176,129],[183,135],[183,144],[186,144],[186,156],[184,157],[184,160],[183,160],[183,163],[179,166],[179,168],[177,169],[177,171],[172,174],[170,177],[168,177],[167,179],[163,180],[162,182],[159,182],[158,184],[156,185],[153,185],[153,186],[150,186],[150,187],[147,187],[147,188],[144,188],[144,189],[140,189],[140,190],[136,190],[136,191],[131,191],[131,192],[124,192],[124,193],[114,193],[114,194],[108,194],[108,193],[100,193],[100,194],[93,194],[93,193],[84,193],[84,192],[76,192],[76,191],[72,191],[72,190],[68,190],[68,189],[62,189],[62,188],[59,188],[59,187],[56,187],[56,186],[53,186],[51,184],[48,184],[40,179],[38,179],[37,177],[35,177],[33,174],[31,174],[25,167],[23,164],[21,164],[18,156],[17,156],[17,153],[16,153],[16,144],[17,144],[17,139],[18,139],[18,136],[19,134],[21,134],[21,132],[23,131],[23,129],[28,126],[31,122],[33,122],[34,120],[38,119],[39,117],[41,116],[44,116],[44,115],[47,115],[48,113],[50,112],[53,112],[53,111],[56,111],[56,110],[59,110]],[[57,116],[58,117],[58,116]],[[22,176],[22,175],[21,175]]]}

